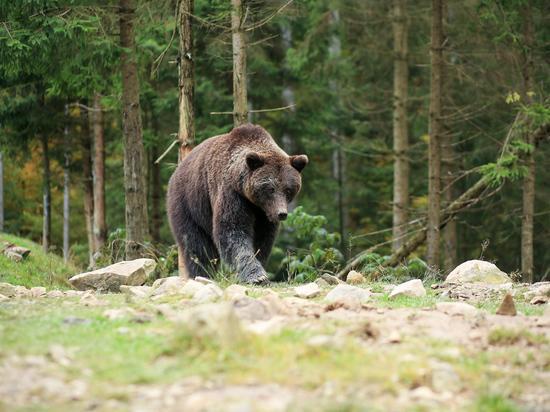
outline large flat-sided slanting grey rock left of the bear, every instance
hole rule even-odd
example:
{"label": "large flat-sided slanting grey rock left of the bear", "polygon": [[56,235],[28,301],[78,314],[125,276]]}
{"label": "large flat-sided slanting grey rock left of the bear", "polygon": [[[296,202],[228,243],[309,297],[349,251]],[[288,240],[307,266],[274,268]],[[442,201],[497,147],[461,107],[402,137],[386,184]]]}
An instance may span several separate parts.
{"label": "large flat-sided slanting grey rock left of the bear", "polygon": [[153,259],[130,260],[81,273],[70,278],[69,282],[79,290],[118,292],[121,285],[139,286],[145,283],[155,267]]}

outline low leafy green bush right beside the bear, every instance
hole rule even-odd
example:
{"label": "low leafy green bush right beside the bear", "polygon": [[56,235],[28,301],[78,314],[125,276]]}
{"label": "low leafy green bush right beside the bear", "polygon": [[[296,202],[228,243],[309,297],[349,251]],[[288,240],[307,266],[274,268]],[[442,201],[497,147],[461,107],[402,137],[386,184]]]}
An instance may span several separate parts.
{"label": "low leafy green bush right beside the bear", "polygon": [[288,279],[306,282],[323,271],[338,270],[343,261],[342,253],[336,248],[340,235],[330,233],[326,224],[326,217],[310,215],[301,206],[289,213],[283,230],[287,242],[289,238],[292,241],[279,266],[286,271]]}

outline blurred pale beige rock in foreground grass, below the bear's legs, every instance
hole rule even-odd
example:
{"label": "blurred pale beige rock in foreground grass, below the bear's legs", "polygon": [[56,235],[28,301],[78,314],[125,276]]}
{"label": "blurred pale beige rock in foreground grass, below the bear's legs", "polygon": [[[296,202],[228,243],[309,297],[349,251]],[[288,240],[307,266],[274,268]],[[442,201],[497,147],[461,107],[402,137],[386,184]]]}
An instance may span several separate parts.
{"label": "blurred pale beige rock in foreground grass, below the bear's legs", "polygon": [[185,328],[185,334],[200,340],[233,344],[243,336],[235,309],[227,302],[195,306],[178,316],[177,321]]}

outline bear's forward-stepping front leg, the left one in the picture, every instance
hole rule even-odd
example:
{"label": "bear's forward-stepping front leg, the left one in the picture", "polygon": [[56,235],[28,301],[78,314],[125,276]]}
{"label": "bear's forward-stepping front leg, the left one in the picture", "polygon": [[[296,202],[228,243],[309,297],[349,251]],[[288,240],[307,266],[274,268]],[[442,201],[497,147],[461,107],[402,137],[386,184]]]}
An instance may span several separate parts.
{"label": "bear's forward-stepping front leg, the left one in the picture", "polygon": [[265,283],[267,273],[254,250],[254,214],[237,194],[221,196],[214,207],[213,235],[221,258],[246,283]]}

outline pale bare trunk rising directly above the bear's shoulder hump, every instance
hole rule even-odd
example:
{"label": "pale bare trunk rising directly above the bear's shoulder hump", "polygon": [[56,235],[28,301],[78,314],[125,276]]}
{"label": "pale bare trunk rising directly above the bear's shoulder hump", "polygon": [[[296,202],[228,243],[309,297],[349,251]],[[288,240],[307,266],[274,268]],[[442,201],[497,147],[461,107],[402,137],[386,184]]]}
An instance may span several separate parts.
{"label": "pale bare trunk rising directly above the bear's shoulder hump", "polygon": [[231,0],[231,32],[233,42],[233,123],[236,126],[248,120],[246,89],[246,38],[243,29],[244,5],[242,0]]}

